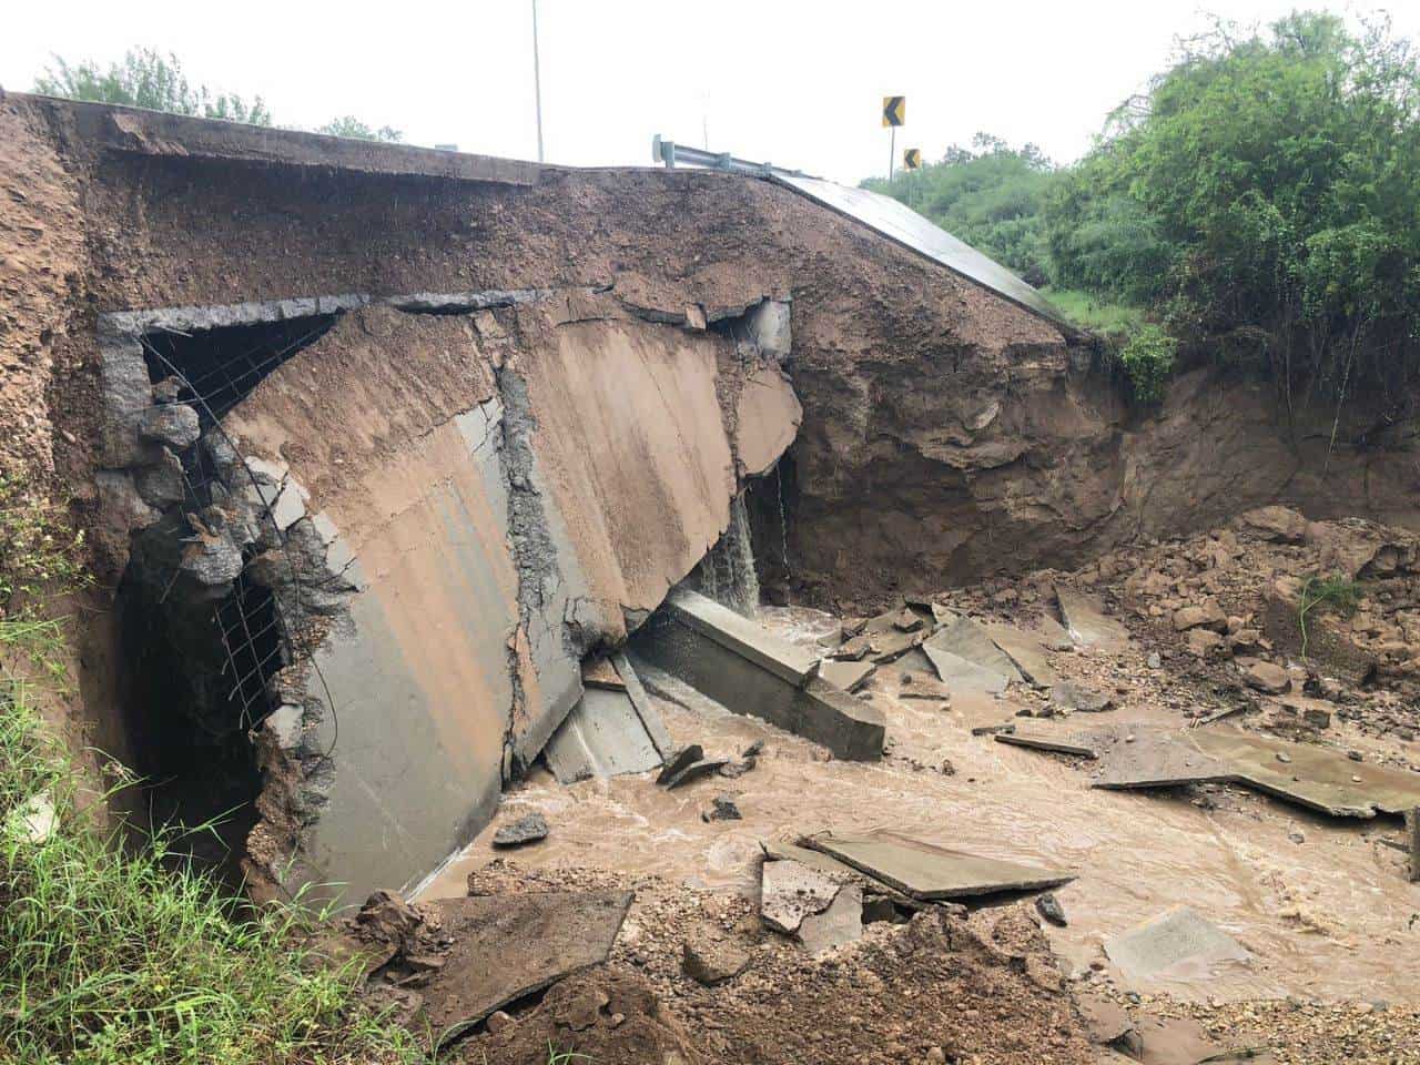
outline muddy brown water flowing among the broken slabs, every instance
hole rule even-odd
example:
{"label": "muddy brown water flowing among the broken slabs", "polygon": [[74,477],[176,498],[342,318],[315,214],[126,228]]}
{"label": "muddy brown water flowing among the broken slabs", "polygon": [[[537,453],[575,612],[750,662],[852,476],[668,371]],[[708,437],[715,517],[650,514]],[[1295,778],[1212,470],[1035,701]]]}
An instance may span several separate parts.
{"label": "muddy brown water flowing among the broken slabs", "polygon": [[[805,643],[829,623],[802,609],[767,609],[761,621]],[[677,743],[738,754],[764,740],[757,768],[669,792],[649,774],[564,788],[538,771],[504,795],[494,825],[420,897],[462,895],[469,872],[494,856],[497,824],[534,809],[552,831],[544,843],[515,852],[525,866],[655,873],[751,897],[761,839],[893,829],[1075,870],[1078,879],[1056,892],[1069,926],[1047,929],[1074,968],[1105,960],[1106,937],[1177,905],[1194,907],[1252,954],[1248,964],[1133,984],[1139,991],[1224,1001],[1420,997],[1420,920],[1410,924],[1420,885],[1407,883],[1403,858],[1377,842],[1396,835],[1389,822],[1329,821],[1240,790],[1228,790],[1211,811],[1181,792],[1095,791],[1074,760],[971,736],[974,726],[1011,720],[1010,697],[957,697],[943,710],[899,699],[899,680],[879,670],[868,689],[889,723],[889,751],[878,764],[821,761],[814,744],[703,697],[687,699],[689,709],[657,699]],[[1081,717],[1179,720],[1139,709]],[[939,771],[944,760],[953,775]],[[703,822],[717,794],[733,795],[744,819]],[[1289,838],[1296,832],[1302,843]]]}

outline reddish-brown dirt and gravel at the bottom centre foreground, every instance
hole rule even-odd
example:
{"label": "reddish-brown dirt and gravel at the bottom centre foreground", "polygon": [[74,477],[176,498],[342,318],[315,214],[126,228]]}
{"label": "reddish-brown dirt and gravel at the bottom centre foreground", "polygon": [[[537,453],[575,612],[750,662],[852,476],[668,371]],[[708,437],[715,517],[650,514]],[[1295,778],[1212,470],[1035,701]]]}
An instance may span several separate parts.
{"label": "reddish-brown dirt and gravel at the bottom centre foreground", "polygon": [[[500,1032],[481,1034],[463,1059],[532,1061],[548,1041],[596,1062],[669,1061],[636,1056],[643,1041],[676,1049],[686,1062],[815,1061],[888,1065],[930,1061],[1091,1061],[1091,1049],[1049,947],[1024,906],[961,916],[936,907],[909,924],[870,924],[865,937],[822,958],[807,957],[763,929],[741,897],[687,890],[586,869],[555,872],[494,862],[470,876],[470,890],[633,886],[636,900],[605,973],[568,981]],[[750,967],[717,987],[682,971],[682,944],[700,936],[734,937]],[[568,1024],[567,1003],[602,991],[596,1022]],[[629,1011],[621,1003],[630,997]],[[622,1012],[639,1024],[613,1027]],[[669,1045],[667,1045],[669,1044]],[[687,1049],[689,1048],[689,1049]]]}

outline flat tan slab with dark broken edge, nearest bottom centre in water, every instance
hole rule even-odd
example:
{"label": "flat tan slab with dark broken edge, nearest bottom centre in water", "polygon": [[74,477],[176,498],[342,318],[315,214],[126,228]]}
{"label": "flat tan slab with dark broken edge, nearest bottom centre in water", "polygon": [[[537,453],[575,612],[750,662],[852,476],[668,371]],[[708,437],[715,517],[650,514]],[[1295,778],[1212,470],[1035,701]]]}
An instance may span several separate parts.
{"label": "flat tan slab with dark broken edge, nearest bottom centre in water", "polygon": [[914,899],[966,899],[995,892],[1038,890],[1075,879],[1074,873],[980,858],[892,832],[819,835],[805,842]]}

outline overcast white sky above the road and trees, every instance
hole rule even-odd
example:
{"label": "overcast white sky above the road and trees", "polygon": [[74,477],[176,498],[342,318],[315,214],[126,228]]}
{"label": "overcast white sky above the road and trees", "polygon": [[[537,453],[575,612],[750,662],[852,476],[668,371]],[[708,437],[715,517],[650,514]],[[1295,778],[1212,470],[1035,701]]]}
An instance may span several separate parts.
{"label": "overcast white sky above the road and trees", "polygon": [[[699,146],[709,128],[714,151],[856,183],[888,165],[882,97],[906,94],[899,152],[934,159],[984,129],[1066,162],[1204,11],[1251,23],[1298,6],[1323,4],[540,0],[547,159],[649,163],[652,133]],[[1420,40],[1420,0],[1386,9]],[[410,143],[537,158],[531,0],[14,3],[0,85],[31,88],[51,53],[108,62],[131,47],[260,94],[278,124],[352,114]]]}

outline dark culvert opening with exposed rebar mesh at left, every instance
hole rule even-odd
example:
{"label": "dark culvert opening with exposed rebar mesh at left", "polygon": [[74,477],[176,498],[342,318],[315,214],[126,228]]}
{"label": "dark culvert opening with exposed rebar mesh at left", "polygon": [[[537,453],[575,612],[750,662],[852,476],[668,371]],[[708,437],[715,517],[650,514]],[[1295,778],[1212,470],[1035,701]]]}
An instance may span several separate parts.
{"label": "dark culvert opening with exposed rebar mesh at left", "polygon": [[[220,433],[223,415],[335,320],[146,335],[155,395],[193,406],[204,436]],[[236,880],[263,784],[250,730],[275,709],[268,682],[287,665],[285,632],[271,591],[246,568],[212,585],[182,567],[186,551],[224,527],[222,501],[248,486],[223,483],[204,440],[178,457],[183,498],[133,535],[116,592],[119,701],[142,778],[139,815],[152,831],[179,832],[178,855]]]}

